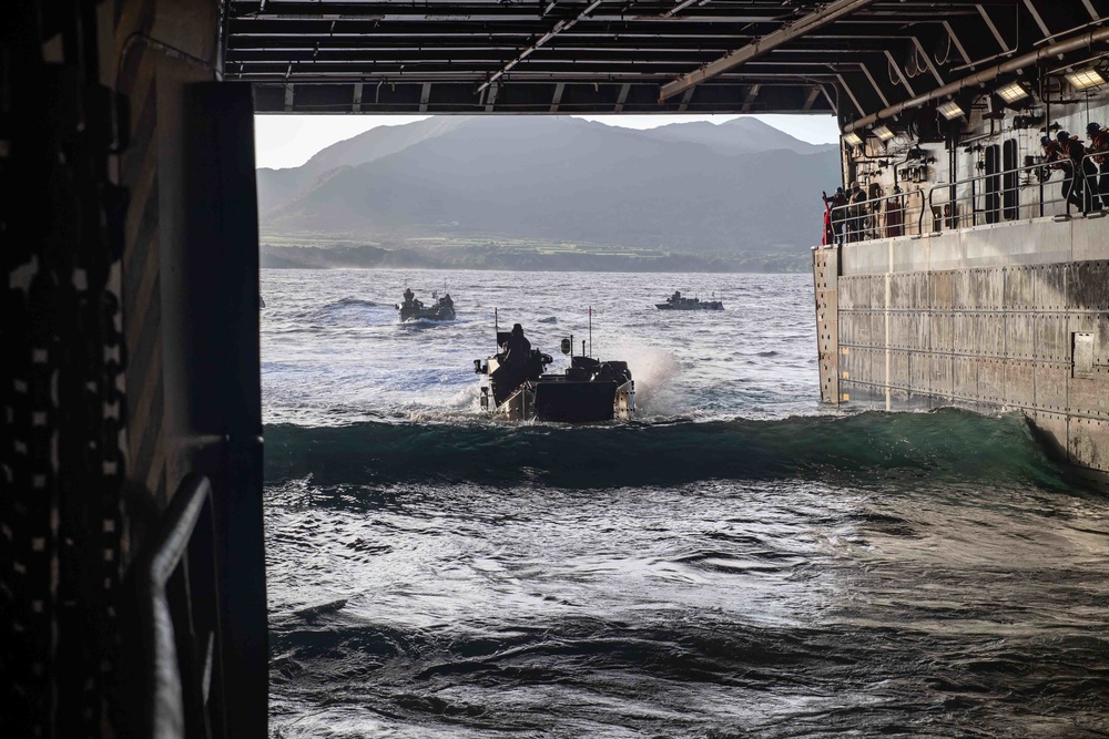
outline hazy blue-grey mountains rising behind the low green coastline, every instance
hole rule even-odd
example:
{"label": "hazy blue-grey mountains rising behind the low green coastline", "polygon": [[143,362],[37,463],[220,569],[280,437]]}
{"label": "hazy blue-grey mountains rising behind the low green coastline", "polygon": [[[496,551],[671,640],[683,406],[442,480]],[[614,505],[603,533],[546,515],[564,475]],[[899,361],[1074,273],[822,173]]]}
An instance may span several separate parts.
{"label": "hazy blue-grey mountains rising behind the low green coastline", "polygon": [[[708,127],[705,127],[708,126]],[[267,230],[499,235],[702,254],[820,238],[835,147],[755,119],[650,131],[571,117],[433,117],[262,170]]]}

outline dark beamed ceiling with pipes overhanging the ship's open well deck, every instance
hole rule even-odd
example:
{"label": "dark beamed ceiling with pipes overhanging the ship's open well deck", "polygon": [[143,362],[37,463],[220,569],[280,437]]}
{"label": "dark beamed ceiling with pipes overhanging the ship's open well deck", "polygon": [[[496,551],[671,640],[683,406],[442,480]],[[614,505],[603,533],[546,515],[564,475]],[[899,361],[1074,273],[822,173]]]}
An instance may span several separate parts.
{"label": "dark beamed ceiling with pipes overhanging the ship's open well deck", "polygon": [[[260,113],[838,113],[1109,20],[1109,0],[227,0]],[[1070,53],[1081,63],[1105,43]]]}

